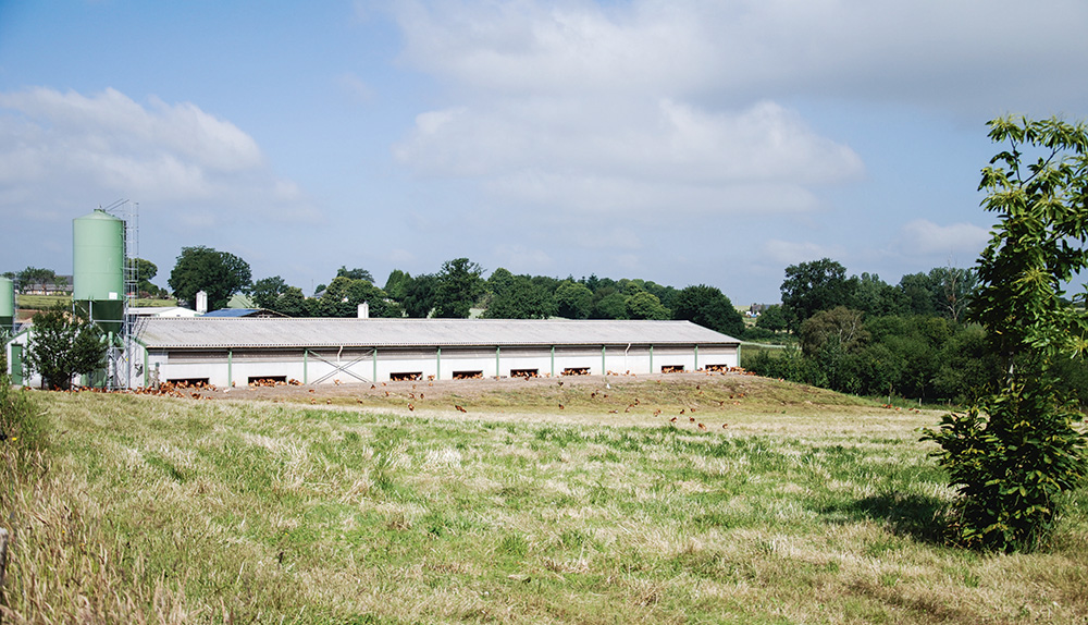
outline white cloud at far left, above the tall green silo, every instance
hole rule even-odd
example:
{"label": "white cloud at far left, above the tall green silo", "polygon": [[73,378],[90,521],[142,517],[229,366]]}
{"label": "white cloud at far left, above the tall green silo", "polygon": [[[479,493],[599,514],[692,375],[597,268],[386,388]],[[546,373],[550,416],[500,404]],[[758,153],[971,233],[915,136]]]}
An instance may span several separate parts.
{"label": "white cloud at far left, above the tall green silo", "polygon": [[294,183],[269,171],[252,137],[194,103],[139,103],[115,89],[0,93],[0,210],[17,212],[26,201],[89,208],[118,197],[191,212],[178,218],[193,228],[247,209],[288,220],[316,215]]}

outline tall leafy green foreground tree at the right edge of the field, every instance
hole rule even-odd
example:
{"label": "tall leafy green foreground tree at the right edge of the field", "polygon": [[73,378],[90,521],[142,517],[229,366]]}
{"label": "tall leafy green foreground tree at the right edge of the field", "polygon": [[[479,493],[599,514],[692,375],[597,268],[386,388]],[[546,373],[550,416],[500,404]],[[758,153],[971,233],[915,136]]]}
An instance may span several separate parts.
{"label": "tall leafy green foreground tree at the right edge of the field", "polygon": [[1048,543],[1062,494],[1088,471],[1088,441],[1074,427],[1081,415],[1058,391],[1055,367],[1088,351],[1088,318],[1065,303],[1063,286],[1088,268],[1088,127],[1026,118],[988,125],[1007,149],[982,169],[982,206],[999,222],[978,260],[968,318],[986,328],[1003,379],[994,395],[945,415],[924,438],[940,444],[935,455],[961,494],[959,538],[1031,551]]}

